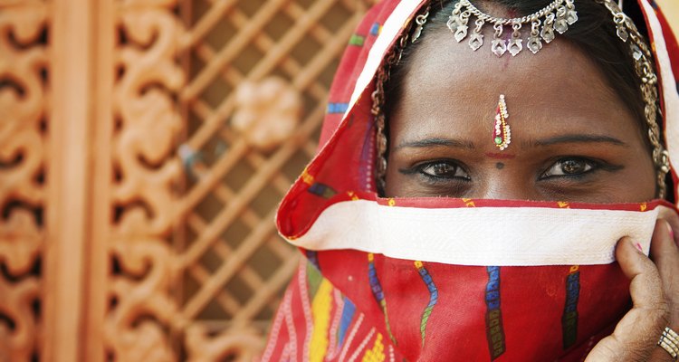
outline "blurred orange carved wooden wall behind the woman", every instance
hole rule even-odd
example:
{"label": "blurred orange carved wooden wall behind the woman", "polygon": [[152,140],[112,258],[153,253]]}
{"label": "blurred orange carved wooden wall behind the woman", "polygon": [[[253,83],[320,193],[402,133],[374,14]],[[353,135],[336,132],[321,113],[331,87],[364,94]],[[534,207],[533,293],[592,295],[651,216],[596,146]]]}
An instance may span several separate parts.
{"label": "blurred orange carved wooden wall behind the woman", "polygon": [[0,361],[252,359],[371,3],[0,0]]}

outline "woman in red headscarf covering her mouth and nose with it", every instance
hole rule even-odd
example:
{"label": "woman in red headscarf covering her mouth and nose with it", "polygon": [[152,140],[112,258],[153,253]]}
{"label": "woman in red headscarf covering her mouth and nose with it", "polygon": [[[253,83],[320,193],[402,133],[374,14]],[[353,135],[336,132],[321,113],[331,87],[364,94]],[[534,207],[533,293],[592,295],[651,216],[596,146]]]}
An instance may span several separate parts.
{"label": "woman in red headscarf covering her mouth and nose with it", "polygon": [[306,262],[263,360],[674,360],[676,42],[625,9],[371,10],[279,210]]}

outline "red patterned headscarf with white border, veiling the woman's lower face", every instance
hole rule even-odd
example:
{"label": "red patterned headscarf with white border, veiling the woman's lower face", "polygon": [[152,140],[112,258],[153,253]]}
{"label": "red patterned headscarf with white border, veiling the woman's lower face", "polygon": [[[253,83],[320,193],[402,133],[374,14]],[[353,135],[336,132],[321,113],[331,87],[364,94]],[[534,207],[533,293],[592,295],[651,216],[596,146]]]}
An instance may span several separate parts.
{"label": "red patterned headscarf with white border, veiling the woman's lower face", "polygon": [[[273,320],[263,361],[577,361],[629,308],[615,243],[630,235],[646,241],[647,252],[667,203],[376,195],[373,80],[424,3],[375,6],[339,64],[323,146],[277,216],[282,236],[306,258]],[[676,160],[679,48],[657,5],[639,5],[662,81],[665,144]]]}

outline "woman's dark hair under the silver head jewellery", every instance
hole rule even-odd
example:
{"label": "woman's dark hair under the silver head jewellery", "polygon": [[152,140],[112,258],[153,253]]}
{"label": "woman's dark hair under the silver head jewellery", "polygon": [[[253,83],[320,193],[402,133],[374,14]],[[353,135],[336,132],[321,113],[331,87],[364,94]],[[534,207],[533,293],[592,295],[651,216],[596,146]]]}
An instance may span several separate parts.
{"label": "woman's dark hair under the silver head jewellery", "polygon": [[[550,0],[483,0],[475,2],[474,5],[477,5],[482,11],[483,5],[500,5],[511,12],[513,16],[520,17],[539,11],[549,3]],[[427,33],[439,32],[442,29],[447,31],[446,22],[455,4],[457,4],[456,0],[432,0],[429,17],[420,39],[425,38]],[[617,38],[613,17],[604,5],[597,4],[594,0],[579,0],[575,2],[575,5],[579,20],[570,25],[566,33],[559,35],[559,39],[566,39],[576,44],[586,56],[595,62],[604,75],[607,85],[615,91],[619,99],[637,119],[639,130],[642,132],[643,139],[650,150],[651,145],[648,137],[646,137],[645,103],[640,90],[641,81],[636,76],[635,61],[629,52],[628,44]],[[635,24],[644,24],[638,8],[634,9],[636,11],[631,10],[626,8],[625,12],[634,20]],[[640,27],[639,32],[646,36],[643,27]],[[451,41],[454,41],[452,36]],[[401,84],[410,69],[410,54],[417,51],[419,43],[422,42],[407,42],[401,60],[397,66],[390,70],[389,81],[385,85],[387,102],[384,112],[387,117],[385,125],[387,139],[389,114],[392,113],[393,107],[397,103],[393,100],[398,100],[401,97]],[[549,46],[549,44],[546,46]],[[469,51],[471,52],[471,50]]]}

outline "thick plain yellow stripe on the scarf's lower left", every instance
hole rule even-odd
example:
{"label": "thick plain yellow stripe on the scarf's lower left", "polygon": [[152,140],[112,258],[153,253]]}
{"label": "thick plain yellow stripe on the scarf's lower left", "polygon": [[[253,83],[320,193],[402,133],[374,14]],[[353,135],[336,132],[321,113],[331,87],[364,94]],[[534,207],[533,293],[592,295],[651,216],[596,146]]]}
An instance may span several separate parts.
{"label": "thick plain yellow stripe on the scarf's lower left", "polygon": [[330,344],[328,329],[330,328],[330,307],[332,306],[331,293],[332,284],[323,278],[311,303],[311,314],[313,316],[313,332],[309,341],[309,360],[311,362],[322,362],[328,351]]}

